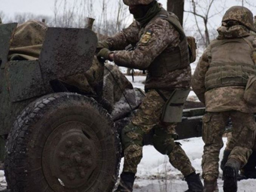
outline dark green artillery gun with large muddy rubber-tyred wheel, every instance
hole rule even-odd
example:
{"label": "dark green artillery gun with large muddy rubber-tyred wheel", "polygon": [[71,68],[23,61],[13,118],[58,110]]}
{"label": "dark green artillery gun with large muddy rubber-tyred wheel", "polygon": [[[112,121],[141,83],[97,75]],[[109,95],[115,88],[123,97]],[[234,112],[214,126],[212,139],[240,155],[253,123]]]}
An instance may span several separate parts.
{"label": "dark green artillery gun with large muddy rubber-tyred wheel", "polygon": [[[8,61],[16,26],[0,25],[0,156],[8,188],[112,191],[122,156],[118,132],[132,110],[113,117],[94,98],[67,92],[58,81],[91,67],[96,35],[49,28],[38,60]],[[203,112],[184,110],[180,139],[201,136]],[[151,144],[151,134],[144,144]]]}

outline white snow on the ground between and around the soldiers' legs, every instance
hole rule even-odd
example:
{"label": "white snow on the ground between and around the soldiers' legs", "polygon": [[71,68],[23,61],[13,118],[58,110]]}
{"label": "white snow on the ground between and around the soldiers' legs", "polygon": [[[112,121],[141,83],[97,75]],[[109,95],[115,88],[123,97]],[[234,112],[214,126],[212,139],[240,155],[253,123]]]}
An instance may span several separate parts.
{"label": "white snow on the ground between and around the soldiers' legs", "polygon": [[[190,138],[179,140],[183,150],[189,157],[196,172],[202,176],[201,161],[203,155],[203,140],[199,138]],[[226,138],[223,138],[224,147]],[[223,150],[220,153],[220,160],[223,156]],[[123,167],[123,158],[121,160],[120,173]],[[143,158],[138,166],[137,178],[134,184],[134,192],[181,192],[187,190],[187,184],[183,181],[181,173],[168,162],[168,157],[160,154],[151,145],[143,147]],[[221,180],[222,170],[218,179],[219,192],[223,192],[223,181]],[[254,192],[256,180],[249,179],[238,182],[238,191]]]}

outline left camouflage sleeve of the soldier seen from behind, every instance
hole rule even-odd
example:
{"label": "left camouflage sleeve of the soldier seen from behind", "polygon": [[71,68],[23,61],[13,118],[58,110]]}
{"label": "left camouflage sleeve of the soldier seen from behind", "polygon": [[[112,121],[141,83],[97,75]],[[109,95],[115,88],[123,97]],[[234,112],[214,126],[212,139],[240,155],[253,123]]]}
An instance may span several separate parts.
{"label": "left camouflage sleeve of the soldier seen from behind", "polygon": [[204,79],[205,74],[209,68],[209,60],[208,60],[208,51],[206,50],[203,55],[201,56],[194,75],[192,77],[192,88],[193,91],[196,93],[198,99],[205,104],[204,93],[206,91]]}

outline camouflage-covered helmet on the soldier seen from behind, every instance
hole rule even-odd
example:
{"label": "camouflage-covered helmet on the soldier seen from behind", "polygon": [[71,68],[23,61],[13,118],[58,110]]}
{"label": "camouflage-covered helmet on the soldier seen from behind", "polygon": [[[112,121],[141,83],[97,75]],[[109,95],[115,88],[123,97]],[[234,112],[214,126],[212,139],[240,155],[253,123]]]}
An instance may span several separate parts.
{"label": "camouflage-covered helmet on the soldier seen from behind", "polygon": [[255,31],[253,27],[253,14],[252,12],[242,6],[230,7],[222,18],[222,22],[227,22],[228,20],[236,20],[242,25],[246,26],[250,30]]}

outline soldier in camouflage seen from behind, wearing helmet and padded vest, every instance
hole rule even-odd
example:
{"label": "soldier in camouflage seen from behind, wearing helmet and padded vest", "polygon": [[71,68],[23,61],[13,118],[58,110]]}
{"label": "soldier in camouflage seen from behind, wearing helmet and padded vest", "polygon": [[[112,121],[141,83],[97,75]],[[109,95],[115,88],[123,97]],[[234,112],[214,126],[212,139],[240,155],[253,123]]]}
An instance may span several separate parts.
{"label": "soldier in camouflage seen from behind, wearing helmet and padded vest", "polygon": [[254,31],[251,11],[240,6],[228,9],[219,36],[203,53],[193,76],[193,90],[206,106],[202,131],[205,192],[218,191],[219,153],[229,117],[233,130],[223,168],[225,192],[237,191],[238,170],[252,152],[256,107],[243,99],[248,76],[256,75],[256,58],[252,57],[256,38],[250,31]]}

